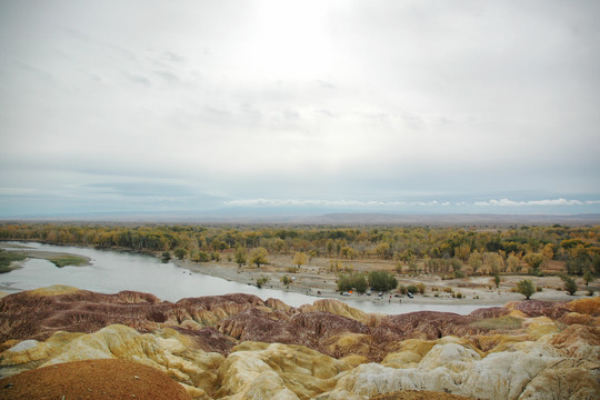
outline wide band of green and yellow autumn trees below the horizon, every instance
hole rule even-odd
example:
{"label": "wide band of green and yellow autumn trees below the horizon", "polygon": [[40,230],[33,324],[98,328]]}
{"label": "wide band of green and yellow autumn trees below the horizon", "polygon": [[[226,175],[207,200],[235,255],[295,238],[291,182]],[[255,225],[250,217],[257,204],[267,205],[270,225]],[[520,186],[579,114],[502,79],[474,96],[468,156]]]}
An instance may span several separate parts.
{"label": "wide band of green and yellow autumn trees below the horizon", "polygon": [[[600,274],[600,227],[293,227],[198,224],[2,223],[0,240],[173,253],[198,262],[263,248],[337,260],[381,259],[410,273],[460,277],[538,274],[552,261],[569,274]],[[264,254],[262,254],[264,256]],[[306,262],[306,260],[303,261]],[[302,262],[302,263],[303,263]],[[244,262],[246,263],[246,260]],[[259,260],[259,266],[262,260]],[[296,263],[296,261],[294,261]]]}

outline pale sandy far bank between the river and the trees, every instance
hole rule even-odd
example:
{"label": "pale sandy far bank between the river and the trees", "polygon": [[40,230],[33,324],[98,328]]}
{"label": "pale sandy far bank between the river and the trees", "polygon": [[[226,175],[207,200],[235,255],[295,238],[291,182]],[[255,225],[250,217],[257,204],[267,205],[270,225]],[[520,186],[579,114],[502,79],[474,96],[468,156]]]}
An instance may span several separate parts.
{"label": "pale sandy far bank between the river and the trees", "polygon": [[[227,257],[227,256],[226,256]],[[269,277],[269,282],[266,288],[279,289],[283,291],[293,291],[309,296],[334,298],[339,300],[352,301],[373,301],[378,298],[373,296],[352,293],[351,296],[341,296],[337,292],[337,273],[329,271],[329,259],[313,259],[307,266],[302,266],[299,272],[290,272],[292,267],[291,256],[270,256],[269,266],[257,268],[256,266],[238,266],[230,261],[196,263],[190,260],[172,260],[176,264],[187,268],[190,271],[203,273],[217,278],[227,279],[240,283],[256,284],[257,279],[262,276]],[[372,269],[390,270],[390,263],[381,260],[361,260],[353,262],[354,271],[369,271]],[[391,270],[390,270],[391,271]],[[286,287],[281,282],[281,278],[288,276],[294,278],[294,281]],[[422,304],[503,304],[508,301],[524,300],[520,293],[512,292],[512,288],[522,279],[532,280],[537,287],[542,288],[540,292],[534,293],[531,298],[537,300],[548,301],[570,301],[578,298],[587,297],[584,283],[581,279],[580,290],[576,296],[569,296],[562,290],[562,281],[558,277],[530,277],[530,276],[501,276],[501,283],[496,288],[492,277],[473,277],[466,279],[442,280],[439,276],[421,274],[419,277],[398,276],[399,284],[417,284],[422,282],[426,284],[424,294],[416,294],[413,299],[406,296],[401,297],[402,301]],[[596,283],[596,282],[594,282]],[[600,289],[598,284],[590,288],[596,292]],[[454,297],[452,296],[454,293]],[[461,293],[462,298],[458,299],[457,293]],[[394,296],[396,292],[384,293],[383,299],[389,296]]]}

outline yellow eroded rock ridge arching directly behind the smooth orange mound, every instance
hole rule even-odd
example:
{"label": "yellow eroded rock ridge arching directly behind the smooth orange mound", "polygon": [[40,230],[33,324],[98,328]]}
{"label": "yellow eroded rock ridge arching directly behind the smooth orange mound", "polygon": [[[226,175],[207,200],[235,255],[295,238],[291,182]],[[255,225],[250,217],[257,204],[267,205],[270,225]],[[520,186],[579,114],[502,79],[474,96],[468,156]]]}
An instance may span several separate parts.
{"label": "yellow eroded rock ridge arching directly behind the smooth orange mound", "polygon": [[3,351],[0,359],[6,367],[2,376],[68,361],[131,360],[167,372],[196,398],[208,398],[217,390],[216,371],[224,357],[196,350],[191,344],[189,338],[171,329],[142,334],[113,324],[89,334],[57,332],[46,342],[26,340]]}

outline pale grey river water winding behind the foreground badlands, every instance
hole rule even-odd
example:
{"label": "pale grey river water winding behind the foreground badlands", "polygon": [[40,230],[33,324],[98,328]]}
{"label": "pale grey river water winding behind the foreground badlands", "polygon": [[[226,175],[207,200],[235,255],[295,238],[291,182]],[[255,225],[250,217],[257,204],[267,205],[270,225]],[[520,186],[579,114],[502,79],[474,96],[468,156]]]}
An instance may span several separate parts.
{"label": "pale grey river water winding behind the foreground badlands", "polygon": [[[102,293],[134,290],[152,293],[162,300],[171,302],[189,297],[227,293],[256,294],[263,300],[276,298],[292,307],[312,304],[314,300],[318,300],[317,297],[282,290],[259,289],[254,286],[190,272],[170,262],[162,263],[159,259],[147,254],[34,242],[4,243],[43,251],[68,252],[91,259],[90,266],[63,268],[57,268],[47,260],[28,259],[23,262],[23,268],[0,274],[0,286],[14,291],[43,288],[51,284],[67,284]],[[0,243],[0,247],[2,247],[2,243]],[[7,250],[18,251],[14,248]],[[386,300],[374,299],[372,301],[344,299],[344,302],[366,312],[387,314],[412,311],[443,311],[468,314],[481,308],[481,306],[473,304],[417,304],[410,303],[409,299],[404,299],[402,303],[398,299],[392,299],[391,303]]]}

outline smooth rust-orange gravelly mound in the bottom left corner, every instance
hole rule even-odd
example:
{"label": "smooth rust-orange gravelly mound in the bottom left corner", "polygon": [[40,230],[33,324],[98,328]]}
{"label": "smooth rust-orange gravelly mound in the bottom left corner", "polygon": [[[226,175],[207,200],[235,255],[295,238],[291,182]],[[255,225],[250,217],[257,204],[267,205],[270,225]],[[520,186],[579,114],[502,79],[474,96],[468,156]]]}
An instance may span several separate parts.
{"label": "smooth rust-orange gravelly mound in the bottom left corner", "polygon": [[133,361],[86,360],[59,363],[0,380],[0,399],[190,400],[167,373]]}

